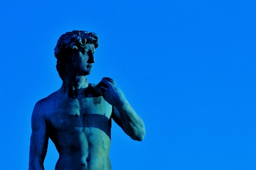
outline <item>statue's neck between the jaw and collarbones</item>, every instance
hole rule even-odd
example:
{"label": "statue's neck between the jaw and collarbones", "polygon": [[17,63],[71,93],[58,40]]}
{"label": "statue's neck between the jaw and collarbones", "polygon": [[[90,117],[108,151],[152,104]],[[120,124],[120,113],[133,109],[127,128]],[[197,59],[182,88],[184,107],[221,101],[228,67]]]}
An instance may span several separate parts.
{"label": "statue's neck between the jaw and collarbones", "polygon": [[87,87],[88,82],[86,76],[64,76],[61,92],[68,94],[68,97],[77,98],[77,96],[84,92],[84,88]]}

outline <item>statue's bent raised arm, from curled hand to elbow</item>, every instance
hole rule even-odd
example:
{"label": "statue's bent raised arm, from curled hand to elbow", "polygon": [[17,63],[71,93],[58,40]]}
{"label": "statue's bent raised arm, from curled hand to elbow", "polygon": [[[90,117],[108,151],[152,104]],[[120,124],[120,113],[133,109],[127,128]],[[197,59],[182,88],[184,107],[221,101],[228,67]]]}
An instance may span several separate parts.
{"label": "statue's bent raised arm, from curled hand to elbow", "polygon": [[142,141],[146,134],[144,122],[134,111],[125,98],[122,90],[119,89],[111,78],[102,78],[101,82],[94,88],[101,93],[113,107],[113,120],[119,125],[131,139]]}

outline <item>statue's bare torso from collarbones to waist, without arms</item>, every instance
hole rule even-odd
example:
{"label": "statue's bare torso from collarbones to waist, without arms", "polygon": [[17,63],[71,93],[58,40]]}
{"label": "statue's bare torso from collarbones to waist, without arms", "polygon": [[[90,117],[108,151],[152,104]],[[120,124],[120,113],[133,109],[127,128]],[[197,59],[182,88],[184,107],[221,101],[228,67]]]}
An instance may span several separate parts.
{"label": "statue's bare torso from collarbones to waist, without arms", "polygon": [[58,91],[46,98],[47,130],[59,152],[56,170],[110,170],[112,105],[85,90],[77,98]]}

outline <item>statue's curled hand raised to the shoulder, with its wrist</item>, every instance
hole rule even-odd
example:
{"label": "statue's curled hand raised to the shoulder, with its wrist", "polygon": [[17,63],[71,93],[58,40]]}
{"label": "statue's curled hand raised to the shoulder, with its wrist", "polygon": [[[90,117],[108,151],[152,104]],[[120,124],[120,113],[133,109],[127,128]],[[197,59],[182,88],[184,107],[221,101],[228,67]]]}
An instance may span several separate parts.
{"label": "statue's curled hand raised to the shoulder, with its wrist", "polygon": [[112,78],[102,78],[102,80],[94,87],[94,90],[103,96],[110,105],[119,107],[126,101],[122,90],[116,86],[115,81]]}

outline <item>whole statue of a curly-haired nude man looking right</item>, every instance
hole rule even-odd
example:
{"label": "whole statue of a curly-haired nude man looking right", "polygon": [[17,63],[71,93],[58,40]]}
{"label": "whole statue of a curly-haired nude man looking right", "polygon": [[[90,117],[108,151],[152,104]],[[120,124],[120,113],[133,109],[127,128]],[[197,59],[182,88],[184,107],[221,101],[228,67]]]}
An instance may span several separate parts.
{"label": "whole statue of a curly-haired nude man looking right", "polygon": [[59,152],[56,170],[110,170],[112,119],[133,140],[142,141],[144,123],[112,78],[87,82],[98,37],[72,31],[60,36],[54,49],[63,84],[40,99],[31,117],[29,169],[44,169],[48,139]]}

